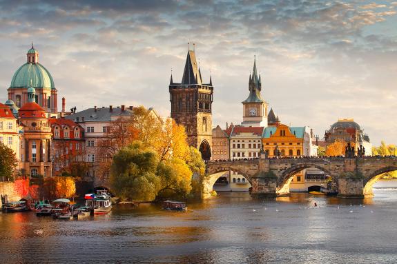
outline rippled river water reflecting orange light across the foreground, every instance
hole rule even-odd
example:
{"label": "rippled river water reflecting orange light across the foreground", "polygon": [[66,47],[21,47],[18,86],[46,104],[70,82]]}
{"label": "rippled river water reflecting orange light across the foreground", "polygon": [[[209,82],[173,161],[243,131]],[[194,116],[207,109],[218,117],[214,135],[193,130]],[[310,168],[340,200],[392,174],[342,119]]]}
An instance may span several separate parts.
{"label": "rippled river water reflecting orange light across the foreground", "polygon": [[77,221],[0,213],[0,263],[397,263],[397,181],[374,194],[227,192],[188,212],[117,205]]}

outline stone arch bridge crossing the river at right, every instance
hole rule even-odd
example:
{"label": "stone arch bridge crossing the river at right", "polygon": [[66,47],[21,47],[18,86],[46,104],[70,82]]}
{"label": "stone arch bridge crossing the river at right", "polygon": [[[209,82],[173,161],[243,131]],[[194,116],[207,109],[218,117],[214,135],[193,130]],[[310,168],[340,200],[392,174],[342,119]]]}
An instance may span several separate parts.
{"label": "stone arch bridge crossing the river at right", "polygon": [[282,158],[206,163],[207,176],[203,182],[204,194],[212,191],[215,181],[232,170],[242,174],[252,185],[252,196],[287,196],[293,175],[308,167],[316,167],[331,176],[340,197],[372,196],[372,185],[381,174],[397,170],[397,157],[356,158]]}

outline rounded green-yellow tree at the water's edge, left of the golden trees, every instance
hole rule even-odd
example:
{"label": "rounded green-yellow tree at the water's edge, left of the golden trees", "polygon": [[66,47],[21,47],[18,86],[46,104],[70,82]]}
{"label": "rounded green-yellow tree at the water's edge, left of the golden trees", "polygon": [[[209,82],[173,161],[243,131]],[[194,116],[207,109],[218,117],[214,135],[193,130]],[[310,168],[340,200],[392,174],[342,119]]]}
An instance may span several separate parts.
{"label": "rounded green-yellow tree at the water's edge, left of the golden trees", "polygon": [[110,183],[121,199],[153,201],[160,187],[157,156],[135,141],[113,156]]}

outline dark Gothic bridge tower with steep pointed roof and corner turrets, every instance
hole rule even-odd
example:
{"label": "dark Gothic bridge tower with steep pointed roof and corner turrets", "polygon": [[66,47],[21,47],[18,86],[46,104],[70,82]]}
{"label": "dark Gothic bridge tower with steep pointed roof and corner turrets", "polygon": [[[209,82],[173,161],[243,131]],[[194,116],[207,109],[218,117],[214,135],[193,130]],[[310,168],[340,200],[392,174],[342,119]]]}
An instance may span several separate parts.
{"label": "dark Gothic bridge tower with steep pointed roof and corner turrets", "polygon": [[182,83],[169,85],[171,118],[184,125],[188,143],[198,148],[202,159],[211,159],[213,85],[202,83],[194,50],[188,50]]}

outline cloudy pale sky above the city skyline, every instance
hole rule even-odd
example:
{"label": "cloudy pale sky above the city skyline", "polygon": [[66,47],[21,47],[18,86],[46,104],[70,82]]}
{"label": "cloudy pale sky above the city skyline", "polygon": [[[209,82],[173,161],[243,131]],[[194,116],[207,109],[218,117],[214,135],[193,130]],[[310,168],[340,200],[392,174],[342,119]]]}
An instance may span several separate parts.
{"label": "cloudy pale sky above the city skyline", "polygon": [[242,122],[256,56],[280,121],[324,136],[353,118],[371,143],[397,143],[397,1],[0,0],[0,101],[32,41],[66,109],[171,111],[195,43],[214,85],[213,125]]}

